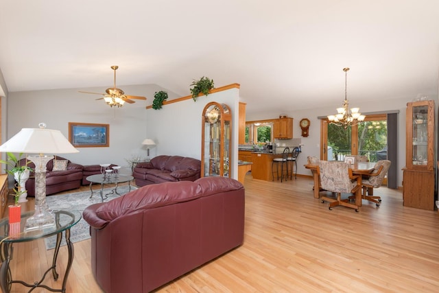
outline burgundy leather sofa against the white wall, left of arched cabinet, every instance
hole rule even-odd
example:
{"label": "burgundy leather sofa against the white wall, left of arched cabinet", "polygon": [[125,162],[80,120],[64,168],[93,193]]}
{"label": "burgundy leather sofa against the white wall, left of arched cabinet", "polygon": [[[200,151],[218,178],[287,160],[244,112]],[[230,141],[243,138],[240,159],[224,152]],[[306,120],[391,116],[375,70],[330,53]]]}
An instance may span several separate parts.
{"label": "burgundy leather sofa against the white wall, left of arched cabinet", "polygon": [[132,176],[137,186],[155,183],[194,181],[200,178],[201,161],[185,156],[156,156],[150,162],[139,163]]}

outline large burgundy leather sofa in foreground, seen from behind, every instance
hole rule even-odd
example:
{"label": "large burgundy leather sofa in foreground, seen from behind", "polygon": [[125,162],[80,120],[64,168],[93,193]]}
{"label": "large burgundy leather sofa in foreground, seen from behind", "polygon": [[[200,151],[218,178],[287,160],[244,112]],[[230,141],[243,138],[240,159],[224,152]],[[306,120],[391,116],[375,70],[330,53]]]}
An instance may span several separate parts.
{"label": "large burgundy leather sofa in foreground, seen from behind", "polygon": [[244,187],[204,177],[92,204],[91,268],[106,293],[150,292],[244,242]]}

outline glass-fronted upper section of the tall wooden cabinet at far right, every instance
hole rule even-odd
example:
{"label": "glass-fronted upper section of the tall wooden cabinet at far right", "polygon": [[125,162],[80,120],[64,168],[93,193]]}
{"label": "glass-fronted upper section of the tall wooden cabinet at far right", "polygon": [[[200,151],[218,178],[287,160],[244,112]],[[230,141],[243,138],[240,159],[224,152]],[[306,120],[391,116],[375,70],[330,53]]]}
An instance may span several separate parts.
{"label": "glass-fronted upper section of the tall wooden cabinet at far right", "polygon": [[434,101],[407,103],[407,167],[433,169]]}

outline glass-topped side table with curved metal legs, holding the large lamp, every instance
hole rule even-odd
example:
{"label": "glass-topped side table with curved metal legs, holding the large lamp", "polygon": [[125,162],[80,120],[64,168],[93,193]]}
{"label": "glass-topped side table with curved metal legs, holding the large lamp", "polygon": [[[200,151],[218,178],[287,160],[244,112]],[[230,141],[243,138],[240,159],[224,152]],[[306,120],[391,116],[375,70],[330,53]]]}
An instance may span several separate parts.
{"label": "glass-topped side table with curved metal legs, holding the large lamp", "polygon": [[[70,241],[70,228],[77,224],[81,220],[81,213],[79,211],[54,211],[55,226],[49,226],[46,228],[41,228],[38,230],[32,230],[24,232],[25,222],[27,218],[32,217],[35,211],[28,211],[21,215],[21,222],[19,228],[20,233],[16,235],[10,235],[12,229],[10,229],[9,219],[3,218],[0,220],[0,257],[1,257],[1,267],[0,267],[0,288],[3,292],[10,292],[12,283],[20,283],[28,288],[32,288],[30,291],[34,290],[36,287],[45,288],[51,292],[65,292],[67,277],[69,277],[69,272],[71,269],[71,264],[73,262],[73,243]],[[69,260],[66,266],[66,272],[64,274],[64,279],[62,280],[62,288],[54,289],[43,284],[43,281],[48,272],[52,272],[54,280],[58,279],[58,272],[56,272],[56,259],[58,258],[58,253],[60,250],[62,232],[65,234],[67,250],[69,250]],[[41,239],[49,237],[51,235],[56,235],[56,246],[54,251],[54,259],[52,260],[52,265],[43,274],[43,277],[39,281],[34,283],[26,283],[24,281],[12,279],[12,274],[10,270],[10,260],[12,259],[12,253],[14,252],[12,245],[17,242],[30,242],[36,239]],[[45,263],[46,261],[41,261]]]}

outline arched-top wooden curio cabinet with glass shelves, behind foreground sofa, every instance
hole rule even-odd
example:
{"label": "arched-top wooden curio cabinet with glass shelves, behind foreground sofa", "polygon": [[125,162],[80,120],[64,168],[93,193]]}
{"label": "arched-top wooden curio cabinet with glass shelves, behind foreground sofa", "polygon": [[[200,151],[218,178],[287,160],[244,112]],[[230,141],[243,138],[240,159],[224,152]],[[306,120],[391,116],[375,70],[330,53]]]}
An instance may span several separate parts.
{"label": "arched-top wooden curio cabinet with glass shelves, behind foreground sofa", "polygon": [[230,177],[232,112],[211,102],[202,113],[201,176]]}

